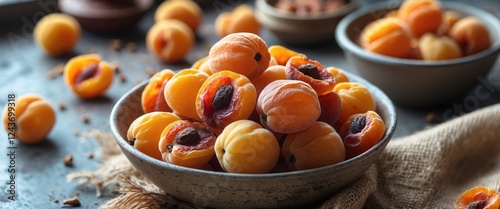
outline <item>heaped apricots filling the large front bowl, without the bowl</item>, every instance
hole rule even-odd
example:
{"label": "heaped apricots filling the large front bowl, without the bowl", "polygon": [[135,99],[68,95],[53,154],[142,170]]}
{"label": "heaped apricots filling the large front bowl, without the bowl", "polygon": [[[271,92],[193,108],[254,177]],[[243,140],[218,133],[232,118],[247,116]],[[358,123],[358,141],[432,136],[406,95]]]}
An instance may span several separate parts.
{"label": "heaped apricots filling the large front bowl, without the bowl", "polygon": [[[342,162],[385,133],[372,94],[253,33],[221,38],[191,68],[159,71],[142,91],[128,142],[168,163],[269,173]],[[281,165],[281,166],[280,166]]]}

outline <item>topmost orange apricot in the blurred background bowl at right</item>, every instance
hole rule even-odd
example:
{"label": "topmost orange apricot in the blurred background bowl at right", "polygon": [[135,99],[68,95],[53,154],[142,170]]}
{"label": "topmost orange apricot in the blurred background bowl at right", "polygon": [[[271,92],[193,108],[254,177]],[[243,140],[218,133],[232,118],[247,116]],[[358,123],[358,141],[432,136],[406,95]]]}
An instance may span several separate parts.
{"label": "topmost orange apricot in the blurred background bowl at right", "polygon": [[414,37],[419,38],[437,31],[443,10],[438,0],[406,0],[399,7],[398,18],[408,25]]}

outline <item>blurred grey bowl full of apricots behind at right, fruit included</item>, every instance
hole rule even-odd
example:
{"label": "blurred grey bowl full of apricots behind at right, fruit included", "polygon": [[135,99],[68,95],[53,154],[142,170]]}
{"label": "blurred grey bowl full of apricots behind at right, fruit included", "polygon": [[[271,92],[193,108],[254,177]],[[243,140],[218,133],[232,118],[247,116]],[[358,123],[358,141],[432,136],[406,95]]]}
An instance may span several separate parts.
{"label": "blurred grey bowl full of apricots behind at right, fruit included", "polygon": [[469,4],[420,2],[363,7],[340,21],[335,36],[359,75],[395,103],[444,105],[492,70],[500,53],[500,21]]}

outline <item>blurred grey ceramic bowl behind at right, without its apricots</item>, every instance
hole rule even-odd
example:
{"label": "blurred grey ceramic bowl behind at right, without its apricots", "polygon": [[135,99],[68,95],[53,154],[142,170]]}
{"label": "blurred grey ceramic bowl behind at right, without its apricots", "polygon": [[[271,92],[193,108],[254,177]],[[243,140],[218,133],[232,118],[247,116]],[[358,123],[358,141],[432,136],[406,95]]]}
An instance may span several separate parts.
{"label": "blurred grey ceramic bowl behind at right, without its apricots", "polygon": [[481,19],[489,29],[492,46],[471,56],[434,62],[398,59],[363,50],[356,43],[360,31],[368,23],[398,8],[400,4],[395,2],[377,3],[347,15],[337,26],[337,43],[356,71],[395,103],[430,107],[452,102],[477,85],[495,65],[500,52],[500,21],[487,11],[470,5],[441,3],[445,9]]}

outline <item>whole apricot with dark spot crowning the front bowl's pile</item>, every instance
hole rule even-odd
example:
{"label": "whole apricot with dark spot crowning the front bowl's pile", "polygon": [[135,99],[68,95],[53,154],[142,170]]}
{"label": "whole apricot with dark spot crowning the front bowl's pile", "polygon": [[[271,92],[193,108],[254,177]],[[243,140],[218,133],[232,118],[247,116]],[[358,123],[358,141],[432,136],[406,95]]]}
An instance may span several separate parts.
{"label": "whole apricot with dark spot crowning the front bowl's pile", "polygon": [[212,72],[223,70],[253,80],[269,66],[271,55],[264,40],[253,33],[232,33],[215,43],[208,53]]}

